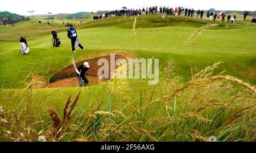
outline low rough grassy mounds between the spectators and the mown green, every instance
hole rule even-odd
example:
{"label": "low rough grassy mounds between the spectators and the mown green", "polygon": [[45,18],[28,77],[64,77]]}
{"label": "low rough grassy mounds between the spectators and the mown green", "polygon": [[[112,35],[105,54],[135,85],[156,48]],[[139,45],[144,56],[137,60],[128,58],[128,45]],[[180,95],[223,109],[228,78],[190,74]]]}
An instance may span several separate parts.
{"label": "low rough grassy mounds between the spectators and the mown green", "polygon": [[[250,21],[246,20],[246,22],[242,21],[242,17],[238,15],[238,19],[236,24],[229,25],[229,27],[226,28],[240,28],[241,26],[250,25]],[[18,41],[19,35],[17,35],[17,32],[20,35],[27,35],[28,39],[35,39],[38,38],[38,36],[46,36],[48,35],[47,32],[44,32],[42,30],[44,29],[55,29],[58,32],[66,31],[64,28],[63,22],[67,23],[74,23],[76,24],[77,29],[84,29],[84,28],[93,28],[93,27],[101,27],[101,26],[119,26],[121,28],[131,28],[133,26],[133,20],[134,18],[122,18],[122,17],[115,17],[115,18],[107,18],[105,20],[97,20],[94,21],[92,18],[90,19],[84,19],[82,24],[80,23],[80,20],[53,20],[54,23],[51,23],[49,27],[46,26],[47,20],[42,20],[42,24],[39,24],[36,22],[36,20],[30,20],[29,22],[19,23],[16,24],[16,27],[0,27],[0,32],[2,32],[3,35],[0,35],[0,41]],[[181,23],[182,22],[182,23]],[[139,16],[137,20],[137,27],[140,28],[149,28],[149,27],[167,27],[167,26],[175,26],[175,24],[189,24],[194,27],[200,27],[202,24],[208,23],[209,20],[201,20],[201,19],[195,19],[195,18],[187,18],[184,16],[180,16],[179,18],[176,18],[175,16],[165,16],[164,18],[162,16]],[[31,23],[31,24],[30,24]],[[221,27],[226,26],[225,23],[221,22],[213,22],[212,23],[218,23]],[[25,28],[26,26],[30,26],[33,28],[33,30],[30,30],[30,28]],[[8,30],[9,34],[13,35],[15,34],[16,37],[7,37],[4,34],[7,34],[3,31]]]}

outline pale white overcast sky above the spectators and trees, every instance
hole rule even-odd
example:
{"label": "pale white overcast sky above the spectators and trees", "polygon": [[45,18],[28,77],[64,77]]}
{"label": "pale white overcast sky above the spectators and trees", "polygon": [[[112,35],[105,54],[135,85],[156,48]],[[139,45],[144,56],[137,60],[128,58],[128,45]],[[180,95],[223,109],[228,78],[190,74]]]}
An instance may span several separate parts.
{"label": "pale white overcast sky above the spectators and trees", "polygon": [[256,10],[256,0],[3,0],[0,11],[10,11],[20,15],[28,15],[27,11],[35,14],[77,13],[80,11],[115,10],[127,8],[142,8],[143,6],[183,6],[194,9],[216,10]]}

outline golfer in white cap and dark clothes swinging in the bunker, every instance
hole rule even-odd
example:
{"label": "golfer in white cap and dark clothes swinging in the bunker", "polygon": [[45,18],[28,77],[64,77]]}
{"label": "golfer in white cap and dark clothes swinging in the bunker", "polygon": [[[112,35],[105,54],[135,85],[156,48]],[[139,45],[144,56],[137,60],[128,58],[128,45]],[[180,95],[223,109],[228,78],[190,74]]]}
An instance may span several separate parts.
{"label": "golfer in white cap and dark clothes swinging in the bunker", "polygon": [[77,73],[77,78],[79,80],[79,86],[88,86],[89,81],[85,76],[85,72],[88,71],[89,68],[90,68],[90,65],[86,61],[83,65],[80,65],[77,68],[76,73]]}

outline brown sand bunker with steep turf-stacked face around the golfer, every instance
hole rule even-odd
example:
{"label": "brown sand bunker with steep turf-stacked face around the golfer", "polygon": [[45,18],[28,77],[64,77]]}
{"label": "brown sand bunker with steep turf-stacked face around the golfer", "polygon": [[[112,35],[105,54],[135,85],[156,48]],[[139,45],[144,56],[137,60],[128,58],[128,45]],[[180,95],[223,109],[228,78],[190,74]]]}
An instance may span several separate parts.
{"label": "brown sand bunker with steep turf-stacked face around the golfer", "polygon": [[[99,59],[106,59],[110,63],[110,55],[97,57],[90,60],[83,60],[76,63],[76,67],[79,67],[84,63],[84,61],[89,62],[90,68],[86,72],[86,77],[89,80],[89,86],[102,84],[102,82],[107,81],[106,79],[100,80],[97,76],[98,69],[101,67],[97,65]],[[118,59],[125,59],[125,56],[115,55],[115,60],[118,60]],[[109,68],[109,72],[110,72],[110,68]],[[77,75],[73,65],[69,65],[68,67],[64,68],[60,72],[56,73],[56,75],[50,79],[49,85],[48,85],[49,88],[62,88],[62,87],[73,87],[73,86],[79,86],[79,82],[77,80]]]}

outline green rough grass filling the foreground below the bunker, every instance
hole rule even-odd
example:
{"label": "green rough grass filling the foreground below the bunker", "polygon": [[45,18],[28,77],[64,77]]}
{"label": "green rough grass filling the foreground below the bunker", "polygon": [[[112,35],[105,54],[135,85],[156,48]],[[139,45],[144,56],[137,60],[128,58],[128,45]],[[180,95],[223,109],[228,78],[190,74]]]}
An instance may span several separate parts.
{"label": "green rough grass filling the foreground below the bunker", "polygon": [[[255,95],[237,92],[230,84],[217,83],[193,86],[181,91],[183,96],[168,101],[150,102],[175,90],[172,86],[170,92],[165,91],[168,87],[165,80],[162,78],[157,86],[130,81],[129,88],[119,93],[106,90],[108,84],[90,88],[2,90],[1,105],[11,124],[0,125],[0,139],[9,141],[21,132],[24,135],[21,140],[34,141],[39,135],[48,141],[56,139],[47,110],[55,109],[63,119],[69,95],[73,102],[81,90],[71,119],[61,126],[62,141],[207,141],[211,135],[219,141],[255,141],[255,111],[248,109],[242,117],[234,118],[244,107],[255,104]],[[209,104],[213,106],[204,108]],[[200,107],[203,110],[196,113]],[[115,110],[122,114],[93,115]],[[34,131],[28,133],[26,129]],[[11,131],[8,137],[5,130]]]}

